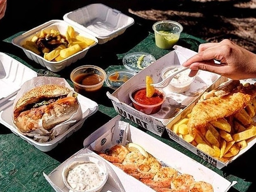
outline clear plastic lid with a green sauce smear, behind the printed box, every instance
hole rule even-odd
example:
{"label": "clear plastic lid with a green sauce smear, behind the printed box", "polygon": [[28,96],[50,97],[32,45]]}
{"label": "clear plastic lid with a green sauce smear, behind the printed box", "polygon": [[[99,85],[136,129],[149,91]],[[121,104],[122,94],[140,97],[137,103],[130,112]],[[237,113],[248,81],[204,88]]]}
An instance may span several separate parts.
{"label": "clear plastic lid with a green sauce smear, behind the printed box", "polygon": [[130,53],[123,58],[124,67],[135,72],[141,71],[155,61],[154,56],[144,52]]}

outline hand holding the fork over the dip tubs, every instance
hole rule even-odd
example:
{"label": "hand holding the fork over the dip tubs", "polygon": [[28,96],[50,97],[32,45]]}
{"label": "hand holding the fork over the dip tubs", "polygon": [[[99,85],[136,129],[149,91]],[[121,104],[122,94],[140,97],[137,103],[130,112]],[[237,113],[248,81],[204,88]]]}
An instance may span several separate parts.
{"label": "hand holding the fork over the dip tubs", "polygon": [[[220,64],[214,60],[220,61]],[[184,62],[183,66],[190,66],[190,77],[195,76],[198,70],[206,70],[234,80],[255,78],[256,54],[226,39],[200,44],[198,54]]]}

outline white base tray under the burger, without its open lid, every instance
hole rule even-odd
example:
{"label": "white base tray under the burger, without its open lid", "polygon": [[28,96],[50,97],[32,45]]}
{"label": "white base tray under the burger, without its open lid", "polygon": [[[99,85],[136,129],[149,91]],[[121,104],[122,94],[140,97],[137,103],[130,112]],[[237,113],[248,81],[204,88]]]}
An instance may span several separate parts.
{"label": "white base tray under the burger, without its open lid", "polygon": [[72,135],[73,132],[80,129],[83,123],[85,122],[85,119],[87,119],[87,117],[94,114],[98,110],[98,104],[92,101],[91,99],[86,98],[85,96],[78,94],[78,101],[82,108],[82,119],[79,122],[75,123],[73,126],[71,126],[65,133],[57,136],[53,140],[46,143],[39,143],[29,137],[26,137],[15,128],[12,122],[13,100],[8,103],[9,105],[5,106],[5,108],[2,108],[0,110],[0,123],[7,126],[13,133],[15,133],[17,136],[20,136],[22,139],[26,140],[31,145],[34,145],[39,150],[44,152],[50,151],[53,148],[55,148],[58,145],[58,143],[61,143],[67,137]]}

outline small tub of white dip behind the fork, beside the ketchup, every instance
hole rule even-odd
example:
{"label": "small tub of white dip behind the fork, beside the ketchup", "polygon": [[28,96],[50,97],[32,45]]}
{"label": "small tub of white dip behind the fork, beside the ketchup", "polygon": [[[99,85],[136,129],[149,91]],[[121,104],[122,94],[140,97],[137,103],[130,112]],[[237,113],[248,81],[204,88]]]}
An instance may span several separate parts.
{"label": "small tub of white dip behind the fork, beside the ketchup", "polygon": [[[164,68],[161,72],[161,77],[165,78],[176,72],[180,68],[183,68],[183,66],[172,65],[170,67]],[[188,91],[191,83],[195,80],[195,77],[188,76],[189,73],[190,70],[188,69],[175,75],[175,77],[171,80],[170,84],[167,86],[169,90],[175,93],[183,93]]]}

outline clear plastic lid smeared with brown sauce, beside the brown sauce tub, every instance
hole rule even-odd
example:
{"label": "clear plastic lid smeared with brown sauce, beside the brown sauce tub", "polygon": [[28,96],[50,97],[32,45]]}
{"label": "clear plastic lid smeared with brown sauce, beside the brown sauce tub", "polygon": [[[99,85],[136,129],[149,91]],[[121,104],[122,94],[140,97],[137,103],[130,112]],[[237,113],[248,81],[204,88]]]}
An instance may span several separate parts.
{"label": "clear plastic lid smeared with brown sauce, beside the brown sauce tub", "polygon": [[106,84],[115,90],[134,75],[136,75],[136,72],[127,69],[112,70],[107,74]]}

